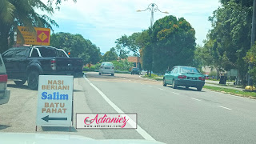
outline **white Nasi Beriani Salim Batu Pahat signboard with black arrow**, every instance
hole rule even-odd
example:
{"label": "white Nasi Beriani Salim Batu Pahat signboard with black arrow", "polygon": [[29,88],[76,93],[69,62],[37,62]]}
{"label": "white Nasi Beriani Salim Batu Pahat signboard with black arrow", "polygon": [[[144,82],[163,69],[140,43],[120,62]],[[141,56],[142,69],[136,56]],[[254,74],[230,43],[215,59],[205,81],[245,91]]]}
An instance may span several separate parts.
{"label": "white Nasi Beriani Salim Batu Pahat signboard with black arrow", "polygon": [[72,126],[73,76],[40,75],[37,126]]}

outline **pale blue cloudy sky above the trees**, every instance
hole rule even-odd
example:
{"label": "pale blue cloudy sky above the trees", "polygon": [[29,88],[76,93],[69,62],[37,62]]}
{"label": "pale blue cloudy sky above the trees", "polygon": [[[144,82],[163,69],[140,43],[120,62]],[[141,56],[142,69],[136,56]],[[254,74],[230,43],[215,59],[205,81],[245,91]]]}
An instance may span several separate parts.
{"label": "pale blue cloudy sky above the trees", "polygon": [[218,0],[68,0],[50,18],[59,26],[54,27],[54,33],[82,34],[106,53],[123,34],[141,32],[150,26],[150,11],[136,12],[145,10],[150,3],[169,12],[155,12],[154,22],[166,15],[183,17],[194,27],[196,43],[200,45],[211,29],[208,17],[220,6]]}

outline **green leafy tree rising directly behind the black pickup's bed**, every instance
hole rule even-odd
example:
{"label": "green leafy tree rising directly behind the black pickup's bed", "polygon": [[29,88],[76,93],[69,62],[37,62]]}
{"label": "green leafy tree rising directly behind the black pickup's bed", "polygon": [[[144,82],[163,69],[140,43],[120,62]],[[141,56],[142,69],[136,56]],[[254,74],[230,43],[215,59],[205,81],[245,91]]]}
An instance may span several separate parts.
{"label": "green leafy tree rising directly behind the black pickup's bed", "polygon": [[52,34],[50,45],[70,52],[70,57],[82,58],[84,64],[95,64],[100,61],[100,50],[90,40],[81,34],[57,33]]}

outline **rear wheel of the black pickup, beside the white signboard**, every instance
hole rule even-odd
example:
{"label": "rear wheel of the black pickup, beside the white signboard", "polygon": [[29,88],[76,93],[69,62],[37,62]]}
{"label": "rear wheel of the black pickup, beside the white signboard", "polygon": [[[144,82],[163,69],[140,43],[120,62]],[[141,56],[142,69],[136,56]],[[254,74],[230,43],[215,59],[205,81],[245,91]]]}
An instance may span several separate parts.
{"label": "rear wheel of the black pickup, beside the white signboard", "polygon": [[28,75],[27,83],[31,90],[38,89],[38,77],[39,77],[38,71],[31,71],[30,74]]}

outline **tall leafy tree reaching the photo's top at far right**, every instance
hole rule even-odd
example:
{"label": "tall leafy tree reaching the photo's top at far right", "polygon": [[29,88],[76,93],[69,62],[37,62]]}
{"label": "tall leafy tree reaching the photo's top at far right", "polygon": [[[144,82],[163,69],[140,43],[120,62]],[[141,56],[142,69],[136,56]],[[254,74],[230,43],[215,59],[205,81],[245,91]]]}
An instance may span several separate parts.
{"label": "tall leafy tree reaching the photo's top at far right", "polygon": [[214,42],[213,56],[219,66],[225,70],[238,69],[240,79],[245,80],[247,64],[243,58],[250,49],[253,1],[222,0],[221,3],[209,18],[213,29],[208,41]]}

